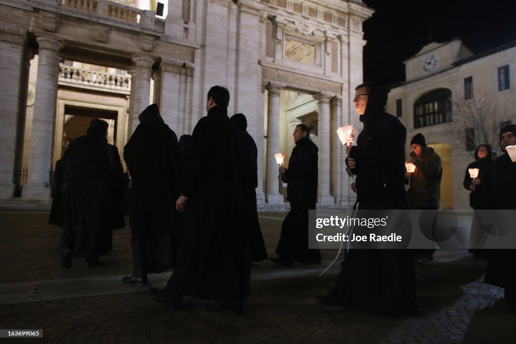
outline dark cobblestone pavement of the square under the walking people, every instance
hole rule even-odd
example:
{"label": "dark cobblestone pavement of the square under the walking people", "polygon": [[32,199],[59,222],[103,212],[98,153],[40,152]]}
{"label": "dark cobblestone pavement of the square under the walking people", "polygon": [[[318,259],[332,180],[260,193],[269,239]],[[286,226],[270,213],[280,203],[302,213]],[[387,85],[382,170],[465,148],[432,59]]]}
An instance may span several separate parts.
{"label": "dark cobblestone pavement of the square under the walking people", "polygon": [[[272,255],[285,214],[260,215]],[[123,285],[131,269],[127,229],[115,233],[104,266],[85,268],[75,259],[71,269],[60,269],[59,230],[46,218],[0,213],[0,329],[43,330],[43,338],[20,342],[516,342],[516,311],[497,303],[501,289],[481,282],[486,261],[464,251],[438,251],[436,261],[416,267],[414,314],[378,316],[316,303],[312,294],[328,291],[338,271],[318,276],[335,255],[325,250],[321,265],[255,264],[244,313],[232,316],[207,312],[196,299],[172,310],[152,301],[146,288]],[[169,274],[151,275],[151,282],[162,285]]]}

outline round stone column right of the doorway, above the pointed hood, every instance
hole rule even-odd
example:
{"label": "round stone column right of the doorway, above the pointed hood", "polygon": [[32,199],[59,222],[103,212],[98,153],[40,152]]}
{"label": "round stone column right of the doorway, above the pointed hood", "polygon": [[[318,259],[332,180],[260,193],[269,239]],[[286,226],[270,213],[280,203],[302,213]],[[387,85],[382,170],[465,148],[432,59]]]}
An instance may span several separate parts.
{"label": "round stone column right of the doorway, above the pointed hood", "polygon": [[[138,126],[138,115],[150,105],[151,72],[154,60],[145,56],[133,56],[133,63],[136,65],[136,80],[131,78],[131,82],[134,81],[134,98],[131,99],[133,103],[133,112],[131,113],[133,126],[130,135],[134,133]],[[133,85],[131,85],[131,88],[133,88]]]}

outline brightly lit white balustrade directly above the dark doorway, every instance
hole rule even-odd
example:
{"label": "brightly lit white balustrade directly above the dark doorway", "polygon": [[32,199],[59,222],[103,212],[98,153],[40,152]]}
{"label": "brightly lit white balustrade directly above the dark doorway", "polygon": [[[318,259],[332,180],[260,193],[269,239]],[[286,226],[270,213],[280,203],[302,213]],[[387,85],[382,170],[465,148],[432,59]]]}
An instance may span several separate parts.
{"label": "brightly lit white balustrade directly above the dark doorway", "polygon": [[117,93],[131,92],[131,76],[104,72],[93,72],[75,67],[59,67],[59,84],[96,90],[110,90]]}

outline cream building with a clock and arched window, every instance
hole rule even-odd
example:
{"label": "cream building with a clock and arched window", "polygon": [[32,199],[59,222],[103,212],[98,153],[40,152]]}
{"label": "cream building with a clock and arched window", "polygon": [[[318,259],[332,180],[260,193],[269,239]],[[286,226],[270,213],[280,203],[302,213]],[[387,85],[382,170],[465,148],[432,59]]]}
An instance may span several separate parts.
{"label": "cream building with a clock and arched window", "polygon": [[407,127],[407,152],[422,133],[441,156],[442,208],[471,209],[462,183],[476,146],[488,141],[501,153],[499,129],[516,123],[516,41],[476,55],[457,39],[431,43],[405,66],[407,80],[392,88],[386,110]]}

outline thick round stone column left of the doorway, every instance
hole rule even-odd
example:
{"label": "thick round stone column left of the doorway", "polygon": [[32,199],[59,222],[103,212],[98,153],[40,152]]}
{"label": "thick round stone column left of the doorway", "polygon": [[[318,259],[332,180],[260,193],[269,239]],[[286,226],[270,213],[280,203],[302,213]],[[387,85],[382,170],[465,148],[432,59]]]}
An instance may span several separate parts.
{"label": "thick round stone column left of the doorway", "polygon": [[38,37],[38,76],[36,101],[30,135],[30,158],[27,184],[23,187],[24,199],[47,200],[50,198],[50,172],[52,169],[52,142],[56,117],[57,78],[62,42]]}

